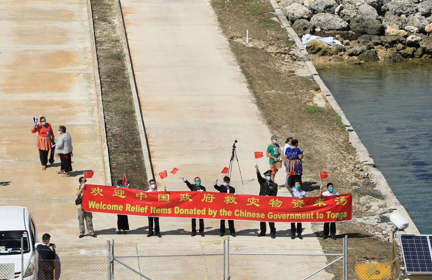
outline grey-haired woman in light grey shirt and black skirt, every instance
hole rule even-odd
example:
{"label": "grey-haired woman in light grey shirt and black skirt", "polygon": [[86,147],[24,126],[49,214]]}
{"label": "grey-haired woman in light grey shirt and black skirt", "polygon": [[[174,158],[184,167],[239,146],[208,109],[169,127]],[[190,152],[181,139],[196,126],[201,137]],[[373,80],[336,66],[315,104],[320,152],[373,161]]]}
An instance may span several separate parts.
{"label": "grey-haired woman in light grey shirt and black skirt", "polygon": [[63,174],[62,177],[69,177],[69,172],[72,171],[72,137],[66,133],[66,126],[59,126],[58,133],[60,133],[60,137],[57,139],[56,148],[61,166],[57,174]]}

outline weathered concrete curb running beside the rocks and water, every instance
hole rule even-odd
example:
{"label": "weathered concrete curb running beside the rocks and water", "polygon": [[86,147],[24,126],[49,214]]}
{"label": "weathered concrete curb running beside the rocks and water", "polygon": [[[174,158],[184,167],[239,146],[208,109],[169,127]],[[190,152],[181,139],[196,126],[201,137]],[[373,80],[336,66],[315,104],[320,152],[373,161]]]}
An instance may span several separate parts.
{"label": "weathered concrete curb running beside the rocks and water", "polygon": [[[285,15],[282,13],[279,4],[276,2],[276,0],[270,0],[270,3],[273,6],[273,9],[275,10],[281,24],[288,32],[289,38],[295,42],[295,47],[299,50],[302,56],[308,57],[308,52],[305,46],[303,46],[302,41],[300,40],[297,33],[295,33],[294,29],[291,28],[291,25],[289,24],[289,21],[286,19]],[[414,222],[411,220],[405,208],[403,208],[403,206],[400,204],[400,201],[397,199],[396,195],[394,195],[394,192],[388,185],[388,182],[384,178],[384,175],[381,173],[380,170],[375,168],[374,160],[372,159],[372,157],[370,157],[368,150],[366,149],[365,145],[363,145],[357,133],[354,131],[351,123],[349,123],[349,120],[346,118],[345,113],[343,113],[343,110],[339,107],[339,104],[337,104],[337,101],[334,99],[333,94],[331,94],[330,90],[321,80],[320,76],[318,75],[317,69],[315,69],[313,63],[311,61],[306,61],[304,65],[308,69],[308,72],[311,74],[311,76],[314,78],[315,82],[317,82],[317,84],[320,86],[321,92],[325,95],[325,98],[327,99],[330,106],[342,118],[342,123],[345,126],[345,129],[349,132],[349,140],[351,141],[353,147],[356,149],[358,160],[360,163],[366,165],[367,172],[369,173],[372,182],[376,184],[375,189],[379,190],[384,195],[388,207],[397,209],[394,210],[394,212],[398,212],[399,214],[403,215],[403,217],[405,217],[410,222],[410,227],[406,230],[406,233],[419,234],[419,230],[415,226]]]}

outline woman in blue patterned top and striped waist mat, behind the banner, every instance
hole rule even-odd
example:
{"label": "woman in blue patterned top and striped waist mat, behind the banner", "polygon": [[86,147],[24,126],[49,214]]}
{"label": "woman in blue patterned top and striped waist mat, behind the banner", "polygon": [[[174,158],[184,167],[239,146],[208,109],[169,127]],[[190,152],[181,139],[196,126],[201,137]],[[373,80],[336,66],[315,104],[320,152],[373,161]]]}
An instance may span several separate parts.
{"label": "woman in blue patterned top and striped waist mat, behind the banner", "polygon": [[[302,183],[302,159],[303,152],[298,148],[299,141],[297,139],[292,140],[291,147],[286,148],[286,187],[294,187],[295,182]],[[291,174],[291,175],[290,175]]]}

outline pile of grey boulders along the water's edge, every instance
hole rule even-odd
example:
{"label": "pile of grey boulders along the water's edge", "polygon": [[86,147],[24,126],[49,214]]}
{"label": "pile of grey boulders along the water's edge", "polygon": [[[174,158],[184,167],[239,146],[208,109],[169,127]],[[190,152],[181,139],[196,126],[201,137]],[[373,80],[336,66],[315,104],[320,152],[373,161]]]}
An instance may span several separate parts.
{"label": "pile of grey boulders along the water's edge", "polygon": [[332,57],[357,64],[432,58],[432,0],[309,1],[281,0],[279,6],[300,38],[311,34],[342,43],[312,40],[306,47],[312,60]]}

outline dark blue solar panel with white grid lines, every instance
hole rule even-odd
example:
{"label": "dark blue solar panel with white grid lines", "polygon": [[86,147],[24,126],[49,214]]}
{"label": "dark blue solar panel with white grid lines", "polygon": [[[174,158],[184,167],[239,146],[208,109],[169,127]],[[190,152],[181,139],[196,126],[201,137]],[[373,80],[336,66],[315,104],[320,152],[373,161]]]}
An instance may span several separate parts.
{"label": "dark blue solar panel with white grid lines", "polygon": [[432,236],[428,235],[400,235],[403,262],[407,274],[432,275]]}

